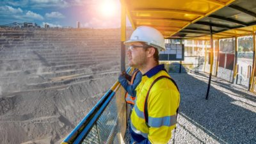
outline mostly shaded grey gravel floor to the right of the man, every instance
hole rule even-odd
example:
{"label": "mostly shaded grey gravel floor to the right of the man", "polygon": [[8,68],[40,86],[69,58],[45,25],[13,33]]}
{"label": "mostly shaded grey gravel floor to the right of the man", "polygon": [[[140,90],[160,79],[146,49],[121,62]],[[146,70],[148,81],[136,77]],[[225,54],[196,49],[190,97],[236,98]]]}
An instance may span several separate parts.
{"label": "mostly shaded grey gravel floor to the right of the man", "polygon": [[[235,90],[230,84],[214,77],[213,84],[221,86],[223,91],[211,86],[209,99],[205,100],[208,77],[189,74],[170,76],[175,79],[180,89],[178,129],[186,131],[177,132],[176,143],[191,143],[186,140],[189,136],[184,136],[188,133],[197,143],[209,143],[209,137],[219,143],[256,143],[256,106],[253,105],[256,102],[255,95],[239,91],[238,88]],[[232,97],[243,98],[246,102],[228,96],[230,91],[236,93]],[[187,123],[182,124],[182,118],[185,118]]]}

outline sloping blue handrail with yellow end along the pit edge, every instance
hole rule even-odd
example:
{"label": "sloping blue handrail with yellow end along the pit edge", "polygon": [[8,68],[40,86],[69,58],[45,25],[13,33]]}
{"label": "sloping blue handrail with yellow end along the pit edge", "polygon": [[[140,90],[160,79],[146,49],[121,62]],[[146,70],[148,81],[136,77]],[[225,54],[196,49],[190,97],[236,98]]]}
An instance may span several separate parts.
{"label": "sloping blue handrail with yellow end along the pit edge", "polygon": [[[127,68],[127,73],[131,70],[131,67]],[[97,104],[92,108],[92,110],[79,122],[79,124],[73,129],[67,138],[61,142],[61,144],[70,144],[70,143],[81,143],[83,138],[86,137],[90,129],[92,129],[97,119],[102,114],[106,106],[108,106],[110,100],[115,95],[115,92],[120,87],[120,83],[116,81],[108,92],[106,92],[103,97],[97,102]]]}

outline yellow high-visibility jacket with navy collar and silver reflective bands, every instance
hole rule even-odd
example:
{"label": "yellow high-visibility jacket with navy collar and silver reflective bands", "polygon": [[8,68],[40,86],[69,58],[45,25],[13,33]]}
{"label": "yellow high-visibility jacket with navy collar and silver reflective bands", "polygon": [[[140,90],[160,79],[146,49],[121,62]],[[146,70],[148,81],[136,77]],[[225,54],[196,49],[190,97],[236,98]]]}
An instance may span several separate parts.
{"label": "yellow high-visibility jacket with navy collar and silver reflective bands", "polygon": [[[170,79],[159,79],[148,95],[148,126],[145,123],[144,104],[150,85],[157,77],[168,76],[164,65],[157,65],[141,78],[136,88],[136,103],[131,114],[131,136],[135,141],[168,143],[176,126],[176,111],[180,93]],[[144,142],[143,142],[144,143]]]}

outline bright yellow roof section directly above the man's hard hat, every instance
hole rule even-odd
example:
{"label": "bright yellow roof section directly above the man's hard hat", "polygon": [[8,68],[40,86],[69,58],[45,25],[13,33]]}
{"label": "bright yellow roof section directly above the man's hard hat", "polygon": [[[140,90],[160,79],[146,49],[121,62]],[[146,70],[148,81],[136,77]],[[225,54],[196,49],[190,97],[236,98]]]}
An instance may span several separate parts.
{"label": "bright yellow roof section directly above the man's hard hat", "polygon": [[[233,1],[234,0],[121,0],[121,3],[127,7],[127,15],[129,15],[129,20],[134,28],[142,25],[154,26],[154,28],[161,30],[164,35],[175,35],[175,33],[180,30],[204,18],[206,15],[227,6]],[[207,21],[207,19],[205,20]],[[209,19],[209,21],[212,20]],[[233,25],[236,26],[236,24]],[[197,27],[198,26],[196,26],[196,28]],[[209,29],[209,26],[202,24],[199,27],[201,30],[204,27],[208,27],[205,29]],[[223,31],[223,28],[214,28],[214,30]],[[195,30],[185,31],[185,33],[183,31],[183,33],[180,33],[180,36],[202,35],[194,33],[194,31]],[[186,32],[191,32],[191,34]]]}

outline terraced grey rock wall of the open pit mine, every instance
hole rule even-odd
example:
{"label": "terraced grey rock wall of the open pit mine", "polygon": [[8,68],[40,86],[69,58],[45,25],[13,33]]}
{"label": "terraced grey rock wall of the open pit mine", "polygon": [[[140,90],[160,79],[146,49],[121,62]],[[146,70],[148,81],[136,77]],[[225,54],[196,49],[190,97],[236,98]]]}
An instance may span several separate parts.
{"label": "terraced grey rock wall of the open pit mine", "polygon": [[120,29],[0,29],[0,143],[60,143],[119,72]]}

